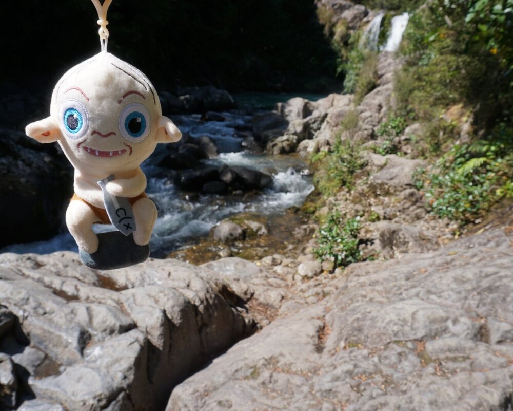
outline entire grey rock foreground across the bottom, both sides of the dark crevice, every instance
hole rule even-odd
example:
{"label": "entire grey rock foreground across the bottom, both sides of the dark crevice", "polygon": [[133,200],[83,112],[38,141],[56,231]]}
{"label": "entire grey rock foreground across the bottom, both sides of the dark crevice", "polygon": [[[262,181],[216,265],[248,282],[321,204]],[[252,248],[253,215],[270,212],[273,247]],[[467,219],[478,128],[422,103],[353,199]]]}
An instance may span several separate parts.
{"label": "entire grey rock foreground across the bottom, both sides of the dark crevice", "polygon": [[283,255],[100,273],[69,252],[3,254],[0,400],[154,410],[179,384],[169,410],[507,409],[508,213],[439,251],[313,278]]}

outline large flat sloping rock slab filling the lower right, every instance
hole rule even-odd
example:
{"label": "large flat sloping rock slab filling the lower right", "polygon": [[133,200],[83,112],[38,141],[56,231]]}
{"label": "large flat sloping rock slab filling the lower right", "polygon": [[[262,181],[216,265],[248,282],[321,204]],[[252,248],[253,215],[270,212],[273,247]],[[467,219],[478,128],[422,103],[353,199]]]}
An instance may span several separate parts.
{"label": "large flat sloping rock slab filling the lower right", "polygon": [[183,410],[499,410],[513,395],[513,227],[350,266],[173,390]]}

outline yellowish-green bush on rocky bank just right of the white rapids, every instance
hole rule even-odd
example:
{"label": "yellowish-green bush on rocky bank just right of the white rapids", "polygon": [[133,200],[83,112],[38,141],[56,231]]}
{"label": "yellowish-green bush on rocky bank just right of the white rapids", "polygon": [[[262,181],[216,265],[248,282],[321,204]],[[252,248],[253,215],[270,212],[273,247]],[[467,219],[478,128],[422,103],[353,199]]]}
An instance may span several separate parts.
{"label": "yellowish-green bush on rocky bank just right of the white rapids", "polygon": [[341,142],[340,137],[332,152],[320,152],[312,158],[312,162],[318,163],[313,183],[326,197],[343,186],[352,187],[354,173],[365,165],[360,147],[349,140]]}

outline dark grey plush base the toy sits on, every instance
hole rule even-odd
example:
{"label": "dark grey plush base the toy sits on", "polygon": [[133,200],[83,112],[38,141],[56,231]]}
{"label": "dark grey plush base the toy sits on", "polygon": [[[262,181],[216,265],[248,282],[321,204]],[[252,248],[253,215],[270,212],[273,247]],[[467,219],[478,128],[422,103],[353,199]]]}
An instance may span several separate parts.
{"label": "dark grey plush base the toy sits on", "polygon": [[80,259],[95,270],[114,270],[142,263],[150,255],[149,244],[138,246],[133,234],[125,236],[119,231],[98,234],[98,251],[93,254],[79,249]]}

